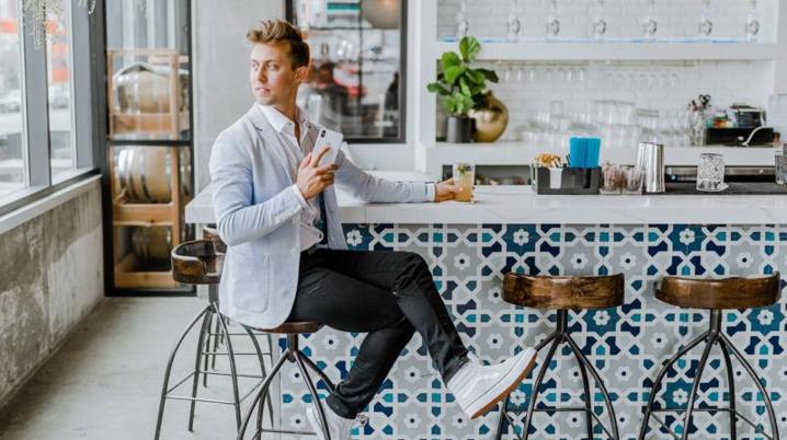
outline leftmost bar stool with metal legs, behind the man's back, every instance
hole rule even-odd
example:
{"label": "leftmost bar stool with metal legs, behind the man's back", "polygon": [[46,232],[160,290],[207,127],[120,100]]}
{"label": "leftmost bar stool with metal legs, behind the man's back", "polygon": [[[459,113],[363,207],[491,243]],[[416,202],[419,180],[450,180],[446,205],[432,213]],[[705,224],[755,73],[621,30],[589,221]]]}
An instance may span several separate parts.
{"label": "leftmost bar stool with metal legs, behind the man's back", "polygon": [[[184,283],[192,283],[192,285],[207,285],[208,291],[209,291],[209,301],[208,304],[199,311],[199,313],[194,316],[194,319],[191,321],[191,323],[186,326],[186,328],[183,331],[181,336],[178,338],[178,341],[175,343],[169,360],[167,362],[167,368],[164,371],[164,380],[163,385],[161,389],[161,397],[159,402],[159,413],[158,418],[156,421],[156,435],[155,439],[159,439],[159,436],[161,433],[161,425],[163,420],[163,413],[164,413],[164,405],[168,400],[179,400],[179,401],[190,401],[190,412],[189,412],[189,430],[192,431],[194,428],[194,410],[197,402],[206,402],[206,403],[215,403],[215,404],[224,404],[224,405],[231,405],[235,409],[235,418],[236,418],[236,425],[238,428],[240,428],[241,424],[241,412],[240,406],[241,403],[250,396],[254,390],[256,390],[258,386],[260,386],[260,383],[263,382],[263,380],[266,378],[265,372],[265,363],[263,361],[263,351],[260,348],[260,344],[256,340],[256,337],[254,334],[252,334],[249,329],[244,328],[244,333],[242,335],[248,336],[253,346],[254,346],[254,352],[251,354],[236,354],[232,348],[232,341],[230,336],[237,335],[233,333],[230,333],[228,328],[228,320],[224,317],[219,311],[218,311],[218,298],[217,298],[217,287],[219,279],[221,277],[221,269],[224,266],[224,257],[225,257],[225,251],[226,246],[224,243],[220,242],[219,239],[217,239],[218,235],[216,235],[216,239],[213,240],[196,240],[196,241],[190,241],[184,242],[176,246],[174,250],[172,250],[172,278],[176,281],[184,282]],[[217,332],[212,333],[210,332],[210,324],[213,320],[216,319],[217,324]],[[197,334],[197,345],[196,345],[196,355],[194,360],[194,369],[186,374],[184,378],[182,378],[180,381],[175,382],[173,386],[170,386],[170,377],[172,373],[172,364],[174,362],[175,356],[178,355],[179,349],[181,348],[181,345],[183,344],[183,340],[186,338],[186,336],[191,333],[193,328],[196,327],[197,323],[201,323],[199,326],[199,333]],[[216,347],[214,347],[214,350],[209,349],[209,343],[206,347],[206,336],[220,336],[224,341],[227,345],[227,352],[218,352],[216,350]],[[270,340],[269,340],[270,345]],[[215,358],[218,355],[226,355],[227,359],[229,361],[229,372],[217,372],[217,371],[207,371],[207,368],[201,369],[199,366],[202,362],[207,366],[207,359],[208,357],[214,357],[214,364],[215,364]],[[260,363],[260,375],[255,374],[239,374],[236,368],[236,356],[240,355],[252,355],[255,356]],[[221,377],[229,377],[230,382],[232,385],[232,397],[229,401],[224,400],[209,400],[209,398],[201,398],[197,397],[197,384],[199,375],[221,375]],[[238,389],[238,378],[250,378],[250,379],[258,379],[259,383],[252,387],[248,393],[246,393],[242,397],[240,396],[239,389]],[[178,390],[181,385],[186,383],[191,379],[191,396],[187,395],[176,395],[174,392]],[[270,409],[270,417],[271,420],[273,420],[273,409]]]}

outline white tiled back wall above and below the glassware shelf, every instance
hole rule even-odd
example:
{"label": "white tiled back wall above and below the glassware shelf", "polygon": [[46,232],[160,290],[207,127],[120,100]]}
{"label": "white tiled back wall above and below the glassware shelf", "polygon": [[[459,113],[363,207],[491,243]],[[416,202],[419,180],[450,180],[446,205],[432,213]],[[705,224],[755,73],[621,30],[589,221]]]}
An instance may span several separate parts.
{"label": "white tiled back wall above and below the glassware shelf", "polygon": [[[596,0],[558,0],[564,36],[589,38],[592,5]],[[639,32],[639,14],[645,0],[606,0],[611,37],[626,37]],[[661,30],[672,37],[694,36],[702,1],[657,0]],[[764,11],[775,9],[772,1],[760,0]],[[504,38],[509,1],[467,0],[470,34],[479,38]],[[544,35],[543,21],[549,11],[547,0],[518,0],[524,23],[524,37]],[[718,33],[716,36],[742,36],[750,2],[744,0],[711,0],[711,11]],[[454,20],[459,0],[438,3],[438,37],[455,34]],[[768,19],[769,20],[769,19]],[[617,24],[612,24],[616,23]],[[663,24],[661,24],[663,22]],[[740,22],[740,23],[739,23]],[[740,24],[740,25],[739,25]],[[775,23],[763,27],[775,27]],[[734,34],[738,32],[738,34]],[[561,33],[562,34],[562,33]],[[640,35],[640,34],[637,34]],[[662,35],[663,37],[663,35]],[[482,43],[494,44],[494,43]],[[613,43],[611,43],[613,44]],[[643,46],[647,43],[643,43]],[[635,103],[637,108],[676,112],[685,109],[698,94],[709,94],[716,107],[745,103],[767,107],[773,90],[773,61],[483,61],[479,67],[494,69],[500,77],[491,90],[509,108],[509,127],[502,141],[524,140],[527,129],[539,112],[549,112],[559,101],[568,112],[588,112],[595,100],[616,100]],[[445,114],[438,106],[437,136],[444,131]]]}

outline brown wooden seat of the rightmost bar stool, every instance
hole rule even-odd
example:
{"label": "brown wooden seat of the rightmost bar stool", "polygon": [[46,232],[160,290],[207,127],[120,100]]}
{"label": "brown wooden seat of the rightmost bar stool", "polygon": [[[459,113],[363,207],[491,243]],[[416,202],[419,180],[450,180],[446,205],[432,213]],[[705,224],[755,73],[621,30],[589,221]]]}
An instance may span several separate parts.
{"label": "brown wooden seat of the rightmost bar stool", "polygon": [[685,309],[753,309],[775,304],[780,291],[779,273],[757,278],[664,277],[655,298]]}

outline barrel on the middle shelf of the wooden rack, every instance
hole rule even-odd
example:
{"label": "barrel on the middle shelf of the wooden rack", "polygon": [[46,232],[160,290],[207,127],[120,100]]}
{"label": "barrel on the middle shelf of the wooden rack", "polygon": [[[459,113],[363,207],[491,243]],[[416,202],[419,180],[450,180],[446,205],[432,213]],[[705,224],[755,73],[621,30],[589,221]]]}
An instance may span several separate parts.
{"label": "barrel on the middle shelf of the wooden rack", "polygon": [[[180,147],[181,192],[191,196],[191,152]],[[123,147],[116,154],[115,177],[118,190],[129,201],[169,202],[172,200],[172,153],[169,147]]]}

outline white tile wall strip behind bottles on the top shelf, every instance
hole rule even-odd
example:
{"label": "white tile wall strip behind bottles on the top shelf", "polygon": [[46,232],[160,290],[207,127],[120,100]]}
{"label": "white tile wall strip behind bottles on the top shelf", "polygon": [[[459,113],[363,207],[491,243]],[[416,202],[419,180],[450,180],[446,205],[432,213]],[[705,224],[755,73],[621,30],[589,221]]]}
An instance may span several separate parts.
{"label": "white tile wall strip behind bottles on the top shelf", "polygon": [[[466,0],[471,35],[479,38],[505,38],[510,0]],[[777,0],[759,0],[763,42],[774,42],[776,35]],[[456,35],[456,14],[460,0],[438,0],[437,37]],[[518,0],[522,36],[546,35],[546,19],[550,13],[549,0]],[[590,38],[592,19],[597,0],[557,0],[560,36]],[[642,19],[647,14],[647,0],[605,0],[604,15],[608,38],[638,38],[642,36]],[[743,38],[751,2],[746,0],[710,0],[712,36]],[[655,19],[659,38],[689,38],[698,35],[702,0],[655,0]]]}

